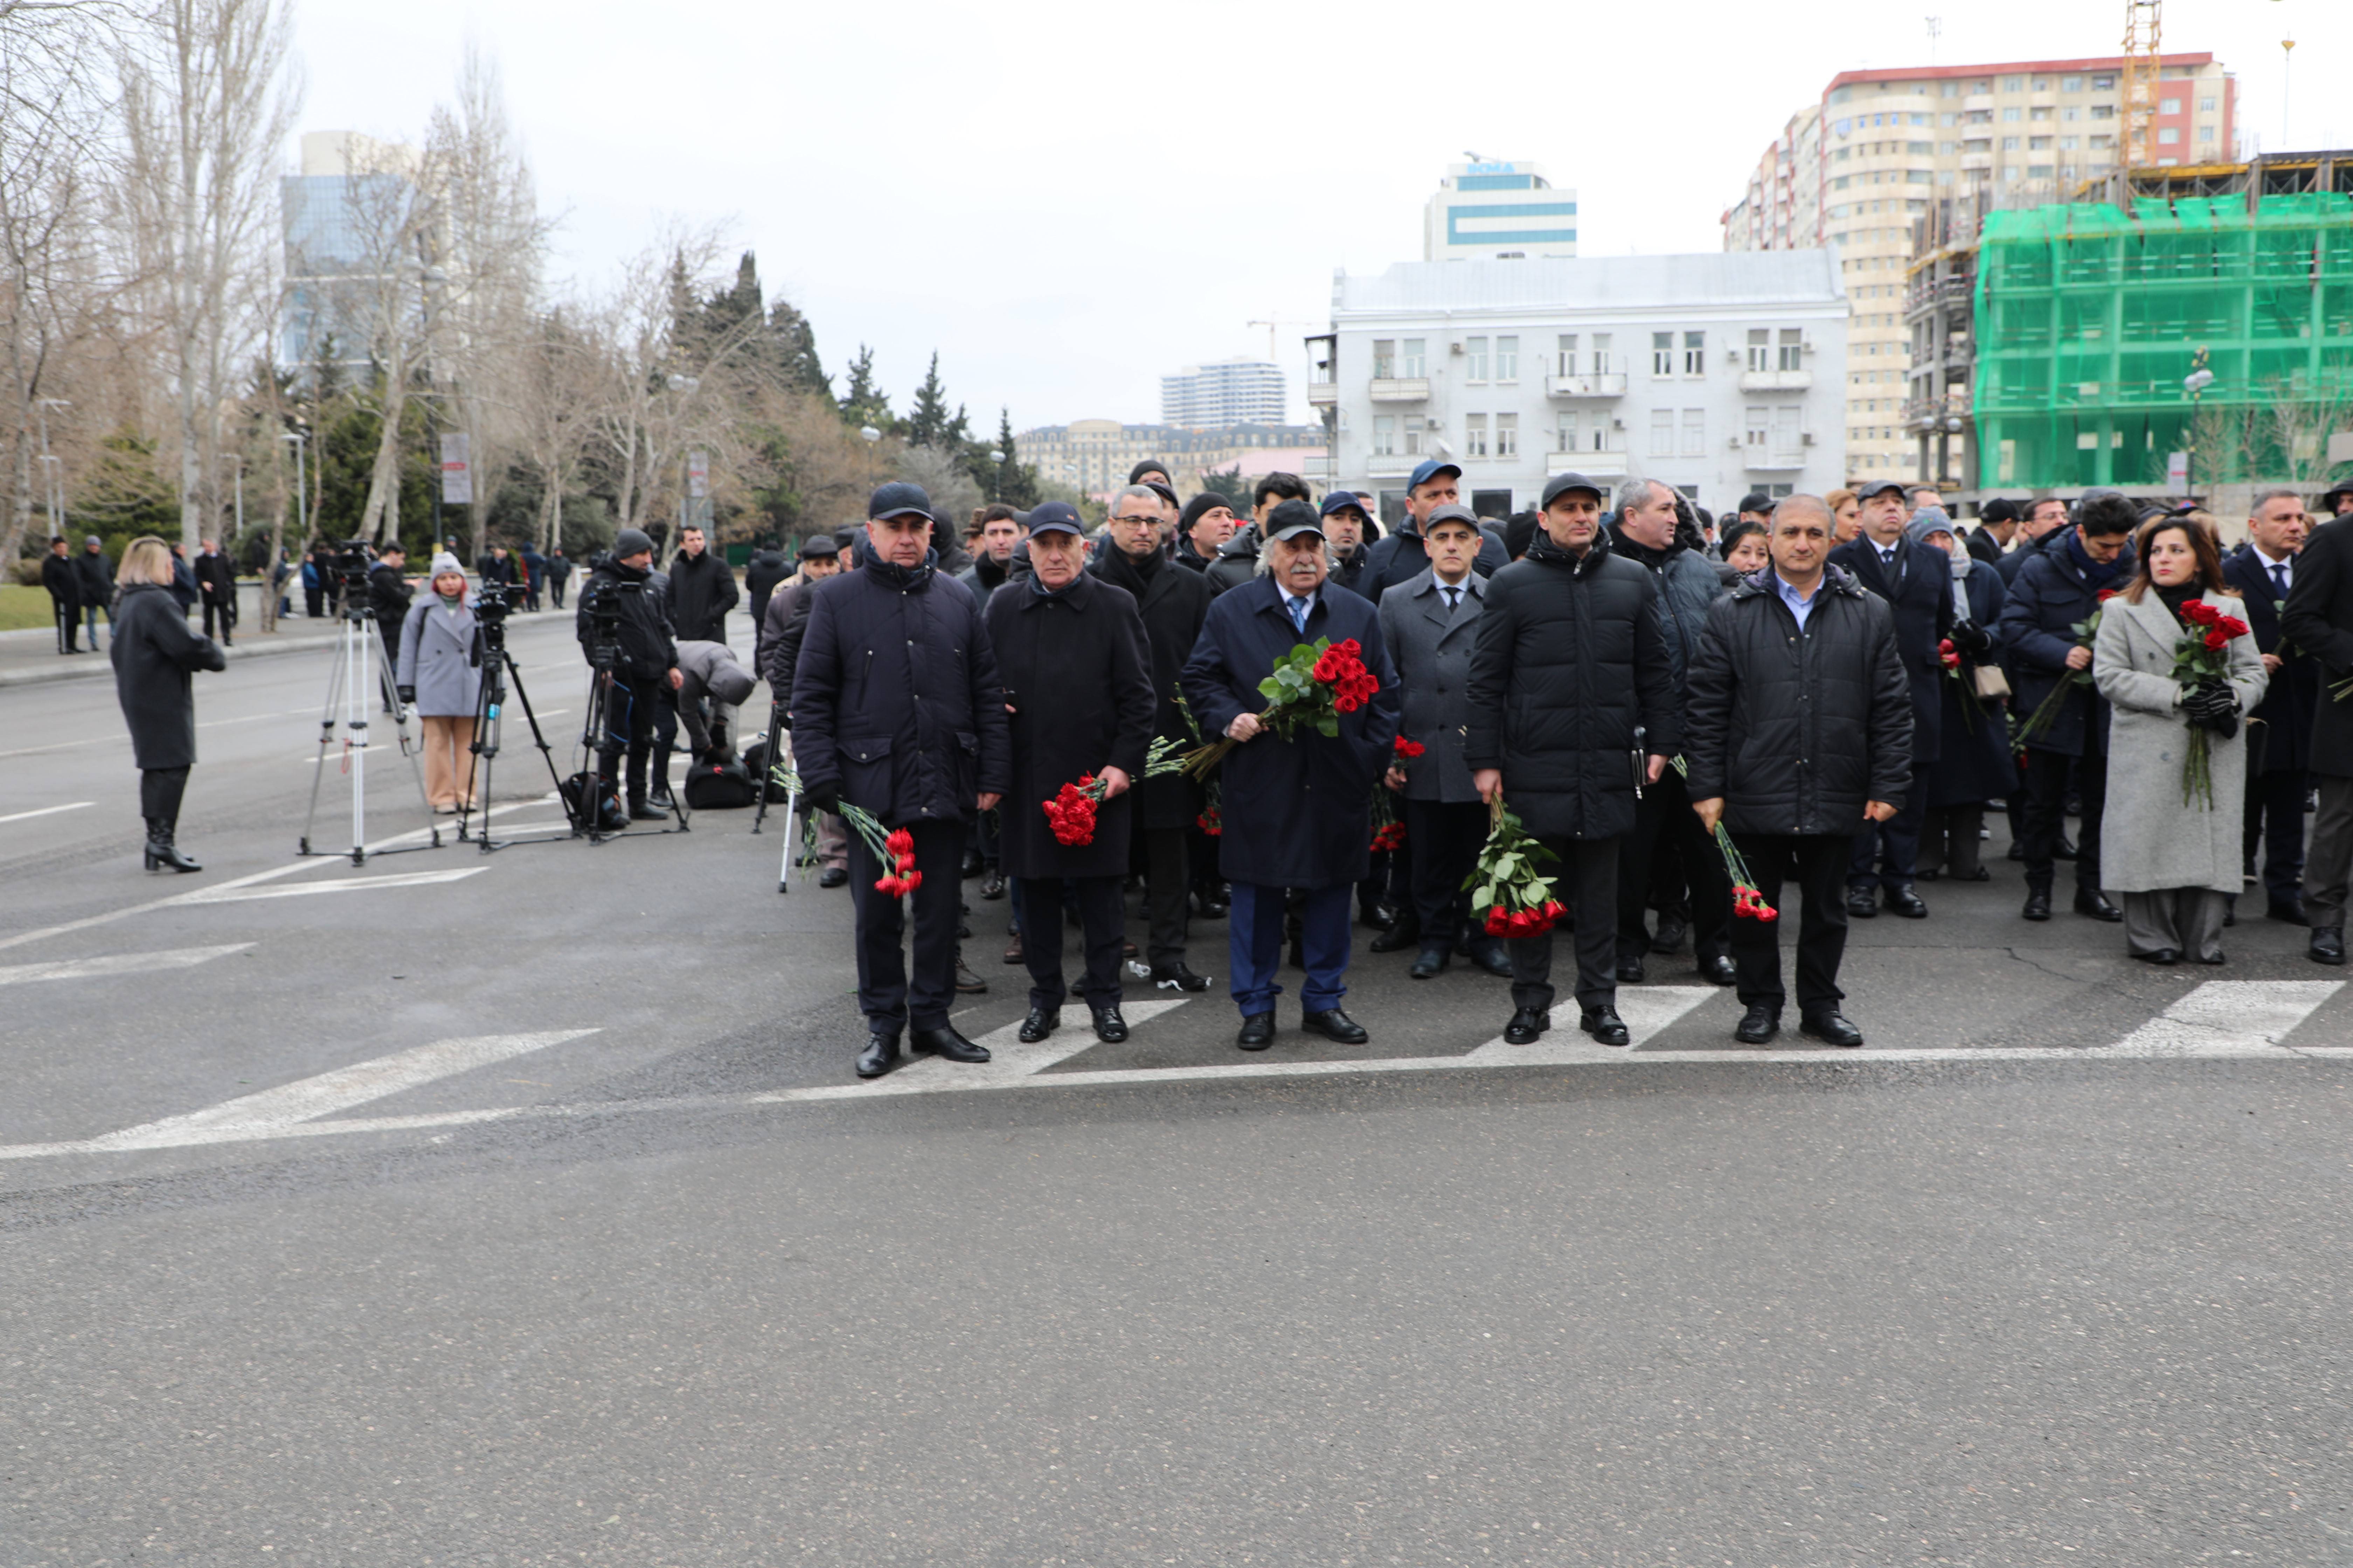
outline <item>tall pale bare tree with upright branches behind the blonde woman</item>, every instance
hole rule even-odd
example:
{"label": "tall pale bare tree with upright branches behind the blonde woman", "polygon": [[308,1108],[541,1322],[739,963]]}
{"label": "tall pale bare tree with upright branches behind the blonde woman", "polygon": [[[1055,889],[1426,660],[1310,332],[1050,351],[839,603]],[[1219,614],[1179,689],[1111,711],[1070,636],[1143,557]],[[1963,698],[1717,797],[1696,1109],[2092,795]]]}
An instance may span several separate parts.
{"label": "tall pale bare tree with upright branches behind the blonde woman", "polygon": [[299,96],[287,33],[282,0],[158,0],[118,54],[132,242],[169,331],[191,550],[219,515],[219,409],[256,339],[238,284],[273,240],[271,174]]}

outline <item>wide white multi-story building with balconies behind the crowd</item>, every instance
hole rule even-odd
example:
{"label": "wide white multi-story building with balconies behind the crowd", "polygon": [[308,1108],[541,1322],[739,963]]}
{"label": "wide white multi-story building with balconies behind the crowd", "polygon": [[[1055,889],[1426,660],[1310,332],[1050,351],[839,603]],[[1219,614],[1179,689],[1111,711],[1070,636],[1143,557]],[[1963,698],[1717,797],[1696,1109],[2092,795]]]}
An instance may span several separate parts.
{"label": "wide white multi-story building with balconies behind the crowd", "polygon": [[1708,508],[1845,477],[1847,301],[1828,252],[1398,263],[1332,277],[1308,404],[1384,522],[1428,456],[1485,517],[1548,473],[1640,473]]}

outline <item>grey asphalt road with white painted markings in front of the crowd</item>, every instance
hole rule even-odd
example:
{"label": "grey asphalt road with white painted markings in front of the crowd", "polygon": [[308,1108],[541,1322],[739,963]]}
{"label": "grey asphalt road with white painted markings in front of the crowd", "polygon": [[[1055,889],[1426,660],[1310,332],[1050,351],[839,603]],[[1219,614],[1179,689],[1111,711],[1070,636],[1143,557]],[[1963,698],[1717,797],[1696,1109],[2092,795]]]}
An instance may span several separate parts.
{"label": "grey asphalt road with white painted markings in front of the crowd", "polygon": [[859,1086],[847,898],[748,813],[294,860],[325,682],[200,677],[179,879],[111,684],[0,691],[0,1568],[2353,1561],[2301,931],[2151,971],[1995,858],[1857,926],[1859,1053],[1685,959],[1513,1051],[1360,947],[1358,1051],[1136,994]]}

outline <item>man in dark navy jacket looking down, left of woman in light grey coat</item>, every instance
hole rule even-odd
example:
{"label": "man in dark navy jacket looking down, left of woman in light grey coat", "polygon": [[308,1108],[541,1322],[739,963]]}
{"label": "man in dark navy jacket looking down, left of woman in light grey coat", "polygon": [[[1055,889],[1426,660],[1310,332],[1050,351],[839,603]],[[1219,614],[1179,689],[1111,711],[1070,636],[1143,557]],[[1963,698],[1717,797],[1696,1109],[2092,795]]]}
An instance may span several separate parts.
{"label": "man in dark navy jacket looking down, left of woman in light grey coat", "polygon": [[[2035,508],[2047,503],[2038,501]],[[2075,628],[2099,611],[2101,595],[2132,578],[2127,550],[2139,510],[2118,491],[2087,491],[2075,527],[2059,529],[2005,559],[2026,557],[2002,599],[2002,663],[2014,693],[2012,712],[2033,715],[2059,682],[2068,682],[2057,717],[2026,736],[2026,919],[2052,917],[2059,835],[2066,827],[2068,771],[2082,795],[2075,837],[2075,912],[2120,922],[2125,912],[2099,891],[2099,820],[2108,799],[2108,703],[2089,679],[2089,637]]]}

